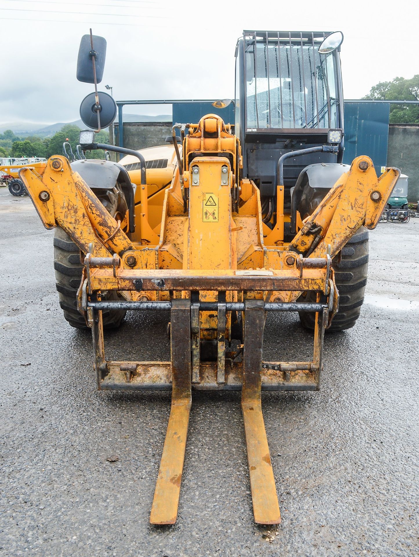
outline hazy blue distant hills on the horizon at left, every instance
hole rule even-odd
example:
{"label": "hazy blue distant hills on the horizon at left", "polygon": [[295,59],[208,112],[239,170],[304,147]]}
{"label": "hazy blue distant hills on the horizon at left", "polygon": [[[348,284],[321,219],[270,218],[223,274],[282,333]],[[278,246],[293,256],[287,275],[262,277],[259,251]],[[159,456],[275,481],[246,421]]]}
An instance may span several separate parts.
{"label": "hazy blue distant hills on the horizon at left", "polygon": [[[115,120],[117,122],[117,119]],[[126,114],[124,113],[124,122],[171,122],[172,117],[170,114],[159,114],[157,116],[149,116],[145,114]],[[0,133],[4,130],[12,130],[18,136],[26,135],[39,135],[42,138],[52,137],[57,131],[60,131],[62,126],[66,124],[73,124],[78,128],[83,129],[86,126],[81,120],[73,122],[57,122],[57,124],[42,124],[36,122],[12,122],[8,124],[0,124]]]}

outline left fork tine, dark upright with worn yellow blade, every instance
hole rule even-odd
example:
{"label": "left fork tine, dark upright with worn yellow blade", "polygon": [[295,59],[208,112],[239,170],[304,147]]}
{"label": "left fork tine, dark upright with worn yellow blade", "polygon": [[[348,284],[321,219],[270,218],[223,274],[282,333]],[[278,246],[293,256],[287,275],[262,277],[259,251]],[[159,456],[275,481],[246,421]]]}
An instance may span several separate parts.
{"label": "left fork tine, dark upright with worn yellow blade", "polygon": [[176,522],[192,403],[190,300],[172,300],[170,319],[172,402],[151,506],[151,524]]}

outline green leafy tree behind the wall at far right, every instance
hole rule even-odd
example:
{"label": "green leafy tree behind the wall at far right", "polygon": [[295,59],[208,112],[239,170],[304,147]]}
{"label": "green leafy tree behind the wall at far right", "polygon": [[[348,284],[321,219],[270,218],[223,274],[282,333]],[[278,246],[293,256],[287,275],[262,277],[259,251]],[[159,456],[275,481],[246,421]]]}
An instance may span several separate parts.
{"label": "green leafy tree behind the wall at far right", "polygon": [[[411,79],[395,77],[392,81],[381,81],[371,87],[363,99],[419,101],[419,74]],[[390,105],[391,124],[419,124],[419,104]]]}

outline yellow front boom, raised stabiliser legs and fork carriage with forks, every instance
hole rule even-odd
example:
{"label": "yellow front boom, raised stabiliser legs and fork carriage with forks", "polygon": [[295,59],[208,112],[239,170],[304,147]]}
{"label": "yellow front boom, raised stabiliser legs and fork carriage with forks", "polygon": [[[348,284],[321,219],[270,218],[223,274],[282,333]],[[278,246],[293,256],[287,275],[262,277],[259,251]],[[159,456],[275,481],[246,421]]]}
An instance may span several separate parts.
{"label": "yellow front boom, raised stabiliser legs and fork carriage with forks", "polygon": [[[387,169],[377,179],[371,159],[358,157],[293,241],[277,246],[265,244],[259,190],[238,181],[239,165],[239,141],[221,118],[191,126],[156,246],[132,241],[129,216],[117,222],[66,158],[50,158],[42,175],[20,174],[44,226],[60,226],[86,253],[78,309],[92,329],[98,388],[172,390],[152,524],[176,520],[193,389],[241,389],[254,518],[280,521],[261,390],[319,388],[324,329],[338,310],[332,258],[359,227],[376,226],[398,178]],[[103,300],[109,291],[121,299]],[[316,301],[297,301],[302,292]],[[102,311],[115,309],[170,310],[171,361],[106,360]],[[312,360],[263,360],[268,311],[316,315]],[[243,343],[230,350],[237,324]]]}

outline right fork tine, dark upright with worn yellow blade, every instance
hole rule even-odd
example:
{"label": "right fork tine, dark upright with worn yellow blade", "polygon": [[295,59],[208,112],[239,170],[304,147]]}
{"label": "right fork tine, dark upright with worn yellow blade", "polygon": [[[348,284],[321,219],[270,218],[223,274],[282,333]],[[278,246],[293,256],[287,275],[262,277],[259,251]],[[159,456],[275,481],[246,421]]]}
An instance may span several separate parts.
{"label": "right fork tine, dark upright with worn yellow blade", "polygon": [[246,436],[253,514],[258,524],[279,524],[281,515],[277,488],[270,461],[260,396],[265,314],[263,302],[260,300],[247,300],[245,305],[241,410]]}

